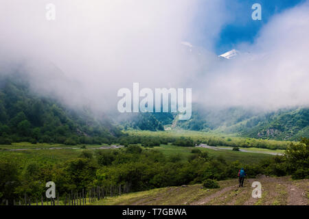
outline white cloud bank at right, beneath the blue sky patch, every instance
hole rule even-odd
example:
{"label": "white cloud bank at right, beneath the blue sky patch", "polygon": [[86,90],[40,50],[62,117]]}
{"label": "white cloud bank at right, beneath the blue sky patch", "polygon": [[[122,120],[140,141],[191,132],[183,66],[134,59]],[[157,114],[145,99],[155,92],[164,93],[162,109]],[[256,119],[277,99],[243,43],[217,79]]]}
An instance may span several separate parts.
{"label": "white cloud bank at right, beneath the blue sky patch", "polygon": [[277,14],[250,52],[216,63],[199,85],[207,105],[245,105],[263,108],[309,105],[309,3]]}

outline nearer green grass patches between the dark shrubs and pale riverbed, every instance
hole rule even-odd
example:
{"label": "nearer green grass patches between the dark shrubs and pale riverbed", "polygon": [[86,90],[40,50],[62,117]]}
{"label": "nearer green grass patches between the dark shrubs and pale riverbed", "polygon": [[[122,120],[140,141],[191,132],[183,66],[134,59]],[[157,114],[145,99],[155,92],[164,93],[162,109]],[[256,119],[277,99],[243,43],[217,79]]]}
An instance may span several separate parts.
{"label": "nearer green grass patches between the dark shrubs and pale riverbed", "polygon": [[[102,147],[102,145],[86,145],[86,149],[80,149],[80,146],[67,146],[63,144],[30,144],[27,142],[23,143],[14,143],[13,145],[4,146],[3,150],[0,150],[0,159],[8,158],[10,160],[15,160],[16,162],[22,162],[26,164],[27,162],[36,161],[38,163],[58,163],[63,162],[68,159],[77,158],[82,151],[90,151],[94,153],[94,150],[100,150],[98,148]],[[70,149],[71,148],[71,149]],[[171,144],[161,144],[161,146],[155,146],[153,148],[142,147],[144,150],[156,150],[163,153],[163,155],[167,155],[168,157],[173,155],[179,155],[182,160],[187,160],[190,155],[192,155],[191,151],[194,147],[181,147],[181,146],[173,146]],[[10,151],[10,149],[27,149],[21,151]],[[244,153],[240,151],[228,151],[228,150],[220,150],[214,151],[212,149],[204,149],[198,148],[201,151],[207,151],[209,156],[214,157],[223,157],[227,161],[233,162],[238,160],[242,163],[253,164],[260,159],[264,159],[266,157],[273,157],[273,155],[268,155],[264,153]],[[105,149],[104,149],[105,150]],[[124,150],[124,149],[111,149],[111,150]],[[246,149],[249,151],[249,149]],[[252,151],[271,151],[267,149],[251,149]],[[271,151],[273,152],[273,151]],[[276,151],[277,152],[277,151]],[[283,150],[278,150],[278,152],[283,152]]]}

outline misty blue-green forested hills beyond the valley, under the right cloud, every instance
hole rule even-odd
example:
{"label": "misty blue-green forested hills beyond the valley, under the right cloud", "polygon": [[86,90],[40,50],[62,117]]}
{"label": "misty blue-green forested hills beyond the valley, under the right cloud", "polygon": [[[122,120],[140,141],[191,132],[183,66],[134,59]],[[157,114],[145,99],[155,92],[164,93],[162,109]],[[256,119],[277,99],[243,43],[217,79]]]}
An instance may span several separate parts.
{"label": "misty blue-green forested hills beyond the valley, under the right cloud", "polygon": [[122,123],[122,127],[125,130],[133,128],[157,131],[162,130],[161,126],[164,125],[172,130],[225,133],[273,140],[300,140],[301,137],[309,137],[308,107],[271,112],[242,107],[211,109],[198,107],[196,104],[192,107],[192,117],[189,120],[177,120],[176,114],[171,113],[140,114],[130,118],[131,125]]}

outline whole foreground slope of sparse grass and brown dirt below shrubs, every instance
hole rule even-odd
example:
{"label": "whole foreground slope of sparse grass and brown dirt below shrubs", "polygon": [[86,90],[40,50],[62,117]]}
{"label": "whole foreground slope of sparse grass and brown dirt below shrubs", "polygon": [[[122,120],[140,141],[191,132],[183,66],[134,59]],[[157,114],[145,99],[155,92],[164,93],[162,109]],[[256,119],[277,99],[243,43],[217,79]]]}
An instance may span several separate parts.
{"label": "whole foreground slope of sparse grass and brown dirt below shrubs", "polygon": [[[262,198],[252,198],[253,181],[262,185]],[[246,179],[238,188],[237,179],[219,182],[220,188],[202,184],[159,188],[104,198],[91,205],[309,205],[309,180],[289,177]]]}

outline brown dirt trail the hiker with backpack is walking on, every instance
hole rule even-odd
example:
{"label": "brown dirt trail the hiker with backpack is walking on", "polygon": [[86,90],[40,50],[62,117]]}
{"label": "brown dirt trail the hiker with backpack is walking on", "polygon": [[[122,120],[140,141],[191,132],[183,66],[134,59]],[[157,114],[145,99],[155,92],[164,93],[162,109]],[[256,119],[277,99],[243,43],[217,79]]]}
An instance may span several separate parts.
{"label": "brown dirt trail the hiker with backpack is walking on", "polygon": [[[262,185],[262,198],[253,198],[253,181]],[[230,185],[191,205],[308,205],[309,181],[293,181],[290,177],[246,179],[244,188]]]}

